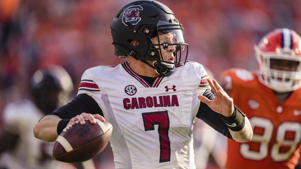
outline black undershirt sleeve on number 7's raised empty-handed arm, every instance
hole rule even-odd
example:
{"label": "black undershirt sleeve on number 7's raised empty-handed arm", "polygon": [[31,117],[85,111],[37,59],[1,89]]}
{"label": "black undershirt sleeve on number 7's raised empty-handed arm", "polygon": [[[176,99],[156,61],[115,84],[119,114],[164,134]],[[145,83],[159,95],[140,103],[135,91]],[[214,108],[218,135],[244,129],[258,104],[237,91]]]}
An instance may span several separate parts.
{"label": "black undershirt sleeve on number 7's raised empty-handed arm", "polygon": [[[206,90],[203,93],[203,96],[207,97],[210,100],[213,100],[215,98],[215,95],[210,90]],[[232,139],[228,126],[220,118],[219,113],[210,109],[210,107],[205,103],[200,103],[196,117],[203,120],[205,123],[210,125],[214,130],[218,131],[222,135],[227,136],[229,139]]]}

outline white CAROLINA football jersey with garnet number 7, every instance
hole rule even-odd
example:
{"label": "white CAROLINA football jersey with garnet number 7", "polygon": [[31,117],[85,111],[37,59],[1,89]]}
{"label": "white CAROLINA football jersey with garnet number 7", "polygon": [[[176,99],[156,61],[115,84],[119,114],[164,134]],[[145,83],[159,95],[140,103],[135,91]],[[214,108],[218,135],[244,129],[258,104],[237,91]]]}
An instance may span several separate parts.
{"label": "white CAROLINA football jersey with garnet number 7", "polygon": [[148,84],[125,62],[87,69],[78,95],[90,95],[113,125],[116,168],[195,168],[193,121],[208,78],[201,64],[187,62]]}

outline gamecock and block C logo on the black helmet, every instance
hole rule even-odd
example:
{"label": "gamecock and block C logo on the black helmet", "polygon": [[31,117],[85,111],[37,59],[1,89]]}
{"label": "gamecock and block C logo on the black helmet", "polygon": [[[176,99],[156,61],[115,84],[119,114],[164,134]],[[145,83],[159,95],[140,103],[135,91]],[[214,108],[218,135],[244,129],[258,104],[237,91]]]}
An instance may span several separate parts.
{"label": "gamecock and block C logo on the black helmet", "polygon": [[135,5],[135,6],[130,6],[126,10],[124,10],[123,13],[123,18],[122,18],[122,23],[126,25],[126,22],[131,23],[132,25],[137,24],[141,18],[140,17],[140,12],[142,11],[143,8],[140,5]]}

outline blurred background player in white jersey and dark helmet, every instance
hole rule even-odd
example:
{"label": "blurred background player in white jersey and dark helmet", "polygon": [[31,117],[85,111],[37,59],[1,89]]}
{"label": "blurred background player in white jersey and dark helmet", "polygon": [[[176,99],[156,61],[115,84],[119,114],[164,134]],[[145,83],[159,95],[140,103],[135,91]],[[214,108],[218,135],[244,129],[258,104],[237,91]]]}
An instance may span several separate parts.
{"label": "blurred background player in white jersey and dark helmet", "polygon": [[31,98],[9,103],[3,110],[0,168],[56,167],[52,156],[53,144],[34,138],[32,131],[35,123],[46,115],[45,112],[49,113],[58,105],[70,101],[72,89],[71,77],[61,66],[48,65],[33,74],[30,80]]}

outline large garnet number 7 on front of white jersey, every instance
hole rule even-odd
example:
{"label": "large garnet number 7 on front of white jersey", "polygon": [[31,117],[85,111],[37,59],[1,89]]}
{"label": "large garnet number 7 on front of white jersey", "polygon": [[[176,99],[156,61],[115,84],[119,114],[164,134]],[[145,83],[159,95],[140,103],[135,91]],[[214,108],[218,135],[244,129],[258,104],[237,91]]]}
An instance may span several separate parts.
{"label": "large garnet number 7 on front of white jersey", "polygon": [[167,111],[142,113],[142,118],[145,131],[155,130],[154,125],[158,125],[160,142],[159,162],[170,161],[169,117]]}

